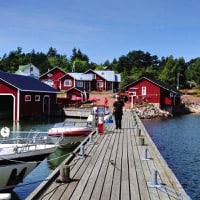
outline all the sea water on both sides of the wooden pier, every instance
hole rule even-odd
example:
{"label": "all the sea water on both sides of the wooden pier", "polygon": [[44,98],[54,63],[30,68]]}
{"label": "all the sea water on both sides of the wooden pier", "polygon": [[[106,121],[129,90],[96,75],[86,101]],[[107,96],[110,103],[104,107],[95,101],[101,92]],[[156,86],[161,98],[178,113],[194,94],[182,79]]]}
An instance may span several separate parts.
{"label": "all the sea water on both sides of the wooden pier", "polygon": [[[20,130],[47,131],[55,122],[26,121],[20,122]],[[174,171],[187,194],[193,200],[200,199],[200,115],[183,115],[171,119],[143,120],[156,146]],[[12,122],[0,121],[0,127],[13,127]],[[68,151],[56,151],[52,157],[66,155]],[[14,192],[19,199],[25,199],[42,180],[63,160],[44,160],[34,171],[27,176]]]}

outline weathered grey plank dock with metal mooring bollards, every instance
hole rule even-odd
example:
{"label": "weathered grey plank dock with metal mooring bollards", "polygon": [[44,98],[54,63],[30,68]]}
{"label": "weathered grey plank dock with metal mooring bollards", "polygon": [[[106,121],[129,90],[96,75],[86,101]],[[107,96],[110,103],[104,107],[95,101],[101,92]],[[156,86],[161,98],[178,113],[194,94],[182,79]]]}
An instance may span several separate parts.
{"label": "weathered grey plank dock with metal mooring bollards", "polygon": [[[134,113],[124,113],[121,130],[105,129],[94,131],[27,199],[189,199]],[[65,167],[69,183],[60,182]]]}

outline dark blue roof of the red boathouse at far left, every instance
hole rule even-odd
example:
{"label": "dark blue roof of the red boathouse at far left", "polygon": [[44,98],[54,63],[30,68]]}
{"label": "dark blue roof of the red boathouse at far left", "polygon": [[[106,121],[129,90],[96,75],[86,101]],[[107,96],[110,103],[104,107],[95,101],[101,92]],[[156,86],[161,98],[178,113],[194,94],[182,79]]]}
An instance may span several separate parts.
{"label": "dark blue roof of the red boathouse at far left", "polygon": [[6,82],[9,85],[12,85],[21,91],[37,91],[48,93],[58,92],[58,90],[31,76],[0,72],[0,80]]}

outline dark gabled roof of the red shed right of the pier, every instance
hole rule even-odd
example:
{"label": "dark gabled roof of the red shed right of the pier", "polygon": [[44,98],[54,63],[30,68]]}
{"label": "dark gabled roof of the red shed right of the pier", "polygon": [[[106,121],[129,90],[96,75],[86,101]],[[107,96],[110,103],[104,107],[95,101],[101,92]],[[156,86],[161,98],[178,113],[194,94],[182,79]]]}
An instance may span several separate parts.
{"label": "dark gabled roof of the red shed right of the pier", "polygon": [[161,87],[161,88],[163,88],[165,90],[168,90],[168,91],[176,93],[176,94],[180,94],[180,92],[177,89],[175,89],[174,87],[172,87],[172,86],[170,86],[170,85],[168,85],[168,84],[166,84],[166,83],[164,83],[164,82],[162,82],[160,80],[155,80],[155,79],[147,78],[147,77],[142,77],[142,78],[140,78],[140,79],[138,79],[138,80],[126,85],[124,88],[127,88],[127,87],[129,87],[129,86],[131,86],[133,84],[136,84],[136,83],[142,81],[143,79],[146,79],[149,82],[151,82],[151,83],[153,83],[153,84],[155,84],[155,85],[157,85],[157,86],[159,86],[159,87]]}

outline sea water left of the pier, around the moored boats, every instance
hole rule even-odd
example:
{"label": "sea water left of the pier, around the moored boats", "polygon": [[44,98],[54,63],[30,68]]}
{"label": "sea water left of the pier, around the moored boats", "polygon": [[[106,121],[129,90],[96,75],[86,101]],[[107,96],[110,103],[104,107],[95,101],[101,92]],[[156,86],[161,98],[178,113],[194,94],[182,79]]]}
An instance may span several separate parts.
{"label": "sea water left of the pier, around the moored boats", "polygon": [[[26,137],[29,131],[41,131],[47,132],[50,127],[56,122],[61,122],[64,119],[51,119],[47,121],[29,120],[21,121],[18,124],[13,124],[12,121],[0,121],[0,128],[9,127],[10,130],[23,131],[20,134],[21,137]],[[12,134],[11,136],[16,137],[19,134]],[[43,181],[46,180],[47,176],[67,157],[67,155],[73,151],[73,149],[57,149],[55,152],[50,154],[43,162],[41,162],[37,168],[35,168],[15,189],[12,195],[13,199],[24,200],[26,197]],[[58,159],[55,159],[58,158]]]}

